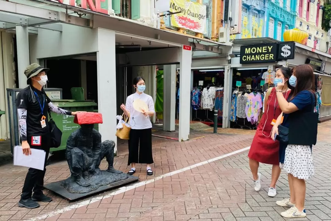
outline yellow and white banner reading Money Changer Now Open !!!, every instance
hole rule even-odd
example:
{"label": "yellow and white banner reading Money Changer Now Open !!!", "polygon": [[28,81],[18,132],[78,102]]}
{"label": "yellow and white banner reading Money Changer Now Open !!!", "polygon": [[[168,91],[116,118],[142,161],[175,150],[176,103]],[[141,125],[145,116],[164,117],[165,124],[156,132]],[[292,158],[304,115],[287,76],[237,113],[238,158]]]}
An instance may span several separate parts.
{"label": "yellow and white banner reading Money Changer Now Open !!!", "polygon": [[171,26],[207,34],[206,6],[190,0],[170,0]]}

